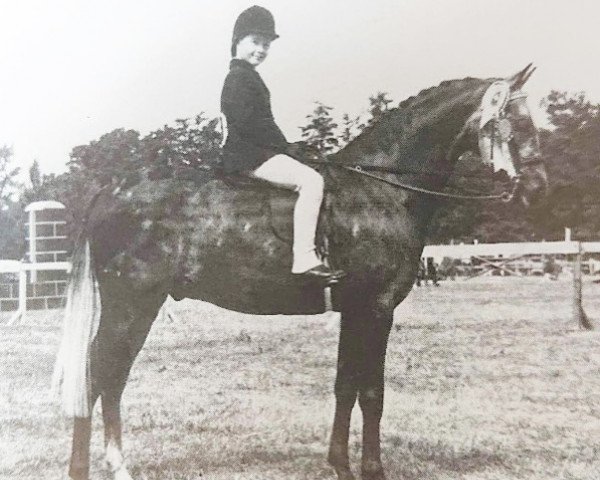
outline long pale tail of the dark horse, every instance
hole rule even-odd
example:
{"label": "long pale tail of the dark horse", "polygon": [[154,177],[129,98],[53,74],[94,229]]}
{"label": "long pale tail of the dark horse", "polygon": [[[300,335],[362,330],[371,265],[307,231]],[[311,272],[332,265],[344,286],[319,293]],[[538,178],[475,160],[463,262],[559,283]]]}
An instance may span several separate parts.
{"label": "long pale tail of the dark horse", "polygon": [[92,413],[90,347],[98,333],[100,313],[100,289],[89,240],[84,239],[73,252],[63,335],[52,378],[52,390],[60,393],[62,409],[71,417]]}

